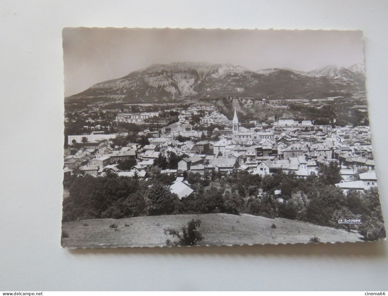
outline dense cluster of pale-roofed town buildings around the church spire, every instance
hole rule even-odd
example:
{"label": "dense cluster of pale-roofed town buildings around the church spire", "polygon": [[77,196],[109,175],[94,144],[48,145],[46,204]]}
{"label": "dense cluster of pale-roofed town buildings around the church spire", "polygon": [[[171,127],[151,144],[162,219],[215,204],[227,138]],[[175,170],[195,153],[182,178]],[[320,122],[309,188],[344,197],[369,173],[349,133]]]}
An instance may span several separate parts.
{"label": "dense cluster of pale-roofed town buildings around the church spire", "polygon": [[[221,118],[217,112],[207,116]],[[231,128],[214,129],[213,135],[216,133],[220,136],[218,141],[199,141],[206,133],[195,130],[193,125],[185,122],[170,124],[160,132],[140,132],[139,135],[149,138],[149,145],[144,146],[132,143],[126,147],[112,148],[109,135],[96,133],[90,135],[96,138],[90,138],[90,141],[87,139],[88,142],[80,150],[65,150],[64,174],[71,174],[73,169],[79,168],[85,174],[95,176],[113,171],[119,176],[147,178],[147,171],[153,167],[159,154],[170,151],[185,156],[178,163],[177,169],[162,171],[174,174],[177,178],[183,172],[231,173],[236,170],[262,176],[278,171],[293,172],[298,178],[307,178],[318,173],[320,164],[335,161],[340,165],[343,176],[343,181],[336,186],[344,192],[350,188],[366,190],[377,186],[369,127],[346,126],[333,129],[330,126],[330,129],[324,129],[308,121],[298,124],[291,120],[279,120],[272,128],[246,129],[240,126],[236,111],[228,124]],[[83,136],[72,137],[78,137],[76,140],[79,143]],[[176,139],[178,136],[189,137],[191,140],[180,142]],[[117,164],[131,158],[136,160],[136,165],[129,171],[120,171]],[[357,174],[359,170],[365,172]],[[356,175],[359,179],[355,179]],[[177,179],[171,186],[171,190],[177,190],[180,197],[183,196],[181,192],[191,190],[190,185],[183,180]]]}

